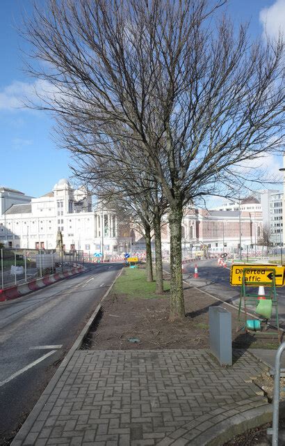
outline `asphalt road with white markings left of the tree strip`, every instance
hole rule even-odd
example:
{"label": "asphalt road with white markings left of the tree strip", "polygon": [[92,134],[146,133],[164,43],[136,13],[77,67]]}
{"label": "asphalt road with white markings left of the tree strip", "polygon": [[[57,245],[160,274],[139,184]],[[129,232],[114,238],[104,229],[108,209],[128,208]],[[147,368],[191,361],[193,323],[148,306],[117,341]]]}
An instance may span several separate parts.
{"label": "asphalt road with white markings left of the tree strip", "polygon": [[29,415],[122,264],[87,268],[81,275],[0,303],[0,445],[7,444]]}

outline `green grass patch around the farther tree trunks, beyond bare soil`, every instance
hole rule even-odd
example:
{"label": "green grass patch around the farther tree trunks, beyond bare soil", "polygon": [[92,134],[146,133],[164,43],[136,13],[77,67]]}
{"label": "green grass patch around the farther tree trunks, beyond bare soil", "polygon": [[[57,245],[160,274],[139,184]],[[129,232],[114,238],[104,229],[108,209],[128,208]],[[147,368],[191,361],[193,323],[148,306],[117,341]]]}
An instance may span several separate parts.
{"label": "green grass patch around the farther tree trunks, beyond bare soil", "polygon": [[[170,290],[170,282],[163,281],[165,291]],[[117,279],[112,293],[124,294],[129,299],[165,298],[168,293],[156,294],[156,283],[147,282],[146,272],[142,268],[126,268]]]}

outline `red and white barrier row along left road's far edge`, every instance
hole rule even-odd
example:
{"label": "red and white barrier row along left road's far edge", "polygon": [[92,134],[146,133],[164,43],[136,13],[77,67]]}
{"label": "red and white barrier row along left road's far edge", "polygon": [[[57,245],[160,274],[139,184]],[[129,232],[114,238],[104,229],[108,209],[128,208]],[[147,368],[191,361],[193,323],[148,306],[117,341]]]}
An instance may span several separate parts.
{"label": "red and white barrier row along left road's far edge", "polygon": [[40,279],[31,279],[29,282],[24,284],[10,286],[6,289],[0,289],[0,302],[20,298],[22,295],[31,293],[31,291],[38,291],[39,289],[44,288],[44,286],[54,284],[54,282],[58,282],[58,280],[79,274],[79,272],[83,272],[84,270],[85,268],[83,266],[79,266],[78,268],[57,272],[54,275],[42,277]]}

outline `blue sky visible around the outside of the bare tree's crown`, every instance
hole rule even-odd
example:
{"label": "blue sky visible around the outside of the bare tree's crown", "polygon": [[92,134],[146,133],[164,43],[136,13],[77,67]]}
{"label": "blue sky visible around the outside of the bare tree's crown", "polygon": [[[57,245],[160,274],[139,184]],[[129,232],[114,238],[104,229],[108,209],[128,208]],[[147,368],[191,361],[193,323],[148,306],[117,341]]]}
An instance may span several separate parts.
{"label": "blue sky visible around the outside of the bare tree's crown", "polygon": [[[0,1],[0,185],[38,197],[49,192],[60,178],[68,178],[71,172],[69,154],[58,148],[52,138],[51,117],[19,108],[35,79],[23,71],[24,54],[19,49],[23,43],[16,26],[20,26],[23,12],[31,14],[32,3],[32,0]],[[229,0],[227,8],[236,22],[251,21],[252,36],[263,32],[264,17],[271,35],[285,23],[285,0]],[[29,51],[29,47],[25,49]],[[269,162],[274,162],[276,170],[282,167],[281,159]]]}

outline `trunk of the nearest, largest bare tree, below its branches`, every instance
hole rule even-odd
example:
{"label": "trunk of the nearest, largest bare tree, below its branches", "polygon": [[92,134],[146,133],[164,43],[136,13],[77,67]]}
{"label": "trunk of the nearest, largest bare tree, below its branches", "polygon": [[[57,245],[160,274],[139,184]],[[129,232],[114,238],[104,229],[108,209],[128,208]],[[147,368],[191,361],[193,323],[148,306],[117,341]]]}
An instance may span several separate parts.
{"label": "trunk of the nearest, largest bare tree, below its branches", "polygon": [[174,206],[170,209],[170,316],[169,320],[185,316],[184,292],[182,283],[182,247],[181,247],[181,223],[183,217],[182,206]]}

